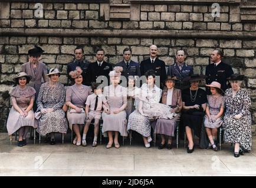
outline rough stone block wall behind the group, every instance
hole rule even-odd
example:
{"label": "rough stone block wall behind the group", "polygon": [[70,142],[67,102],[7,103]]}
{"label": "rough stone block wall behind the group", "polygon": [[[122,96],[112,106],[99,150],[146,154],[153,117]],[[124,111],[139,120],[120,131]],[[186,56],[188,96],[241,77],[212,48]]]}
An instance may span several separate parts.
{"label": "rough stone block wall behind the group", "polygon": [[[166,65],[173,64],[177,49],[185,48],[186,63],[193,66],[195,73],[205,73],[212,50],[221,48],[224,62],[231,65],[235,73],[246,76],[244,87],[251,94],[255,132],[256,23],[241,20],[244,4],[219,0],[220,16],[214,18],[209,1],[187,1],[186,4],[166,0],[158,4],[134,0],[55,2],[42,3],[43,14],[38,17],[38,8],[33,2],[0,1],[1,131],[5,131],[10,107],[6,91],[14,84],[12,79],[20,72],[22,63],[28,61],[28,49],[35,44],[44,49],[42,57],[48,68],[61,70],[62,83],[67,83],[67,63],[74,58],[77,45],[84,46],[85,58],[90,62],[96,60],[94,49],[101,46],[105,60],[116,64],[122,60],[127,46],[132,48],[133,61],[141,62],[149,57],[149,46],[155,44],[159,58]],[[251,14],[256,14],[256,6],[255,9],[254,5],[250,6]],[[116,14],[127,9],[129,19],[127,14],[125,18]],[[115,12],[112,17],[111,12]]]}

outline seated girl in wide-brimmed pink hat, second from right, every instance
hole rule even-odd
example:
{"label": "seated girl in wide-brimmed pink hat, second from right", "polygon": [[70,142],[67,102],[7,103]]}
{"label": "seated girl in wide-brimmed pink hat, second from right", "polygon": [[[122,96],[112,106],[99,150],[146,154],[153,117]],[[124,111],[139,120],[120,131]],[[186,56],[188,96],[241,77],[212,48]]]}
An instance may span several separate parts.
{"label": "seated girl in wide-brimmed pink hat, second from right", "polygon": [[223,123],[224,115],[224,96],[222,96],[223,90],[219,82],[212,82],[210,85],[212,95],[207,96],[208,103],[206,104],[206,115],[205,115],[205,130],[210,140],[207,149],[213,149],[215,152],[218,151],[216,146],[216,139],[218,128]]}

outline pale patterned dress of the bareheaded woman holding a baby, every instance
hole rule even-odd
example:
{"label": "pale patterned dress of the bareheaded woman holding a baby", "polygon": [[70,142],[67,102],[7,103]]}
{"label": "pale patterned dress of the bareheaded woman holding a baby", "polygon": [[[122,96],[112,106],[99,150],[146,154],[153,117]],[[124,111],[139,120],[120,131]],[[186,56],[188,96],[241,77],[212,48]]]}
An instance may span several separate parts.
{"label": "pale patterned dress of the bareheaded woman holding a baby", "polygon": [[[149,89],[147,84],[143,84],[140,88],[140,99],[146,98],[147,102],[143,102],[143,109],[150,109],[150,104],[159,103],[162,96],[162,89],[155,85],[153,89]],[[150,118],[140,114],[139,110],[134,110],[130,114],[127,130],[134,130],[142,136],[149,137],[151,132]]]}

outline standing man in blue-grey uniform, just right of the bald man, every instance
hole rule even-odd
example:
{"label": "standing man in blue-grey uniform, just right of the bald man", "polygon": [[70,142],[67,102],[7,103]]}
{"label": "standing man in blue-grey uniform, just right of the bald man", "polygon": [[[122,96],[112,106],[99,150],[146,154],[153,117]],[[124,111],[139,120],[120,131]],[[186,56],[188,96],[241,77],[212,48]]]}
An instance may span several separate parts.
{"label": "standing man in blue-grey uniform, just right of the bald man", "polygon": [[167,75],[176,76],[178,80],[175,82],[175,88],[186,89],[189,88],[189,82],[186,78],[193,75],[193,67],[185,63],[186,53],[183,49],[176,52],[176,63],[169,66]]}

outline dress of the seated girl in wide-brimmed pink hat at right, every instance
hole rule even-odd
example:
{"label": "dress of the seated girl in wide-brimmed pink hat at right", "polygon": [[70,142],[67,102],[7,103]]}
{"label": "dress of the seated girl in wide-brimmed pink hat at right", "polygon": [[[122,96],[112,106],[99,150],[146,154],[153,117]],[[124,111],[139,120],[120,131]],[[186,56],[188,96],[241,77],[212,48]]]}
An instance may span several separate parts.
{"label": "dress of the seated girl in wide-brimmed pink hat at right", "polygon": [[[207,95],[207,106],[209,107],[209,113],[212,116],[218,115],[221,110],[221,106],[224,107],[224,96],[219,95],[218,98],[214,98],[212,95]],[[223,123],[223,116],[215,120],[215,122],[209,122],[208,116],[205,115],[205,127],[210,129],[218,129]]]}

